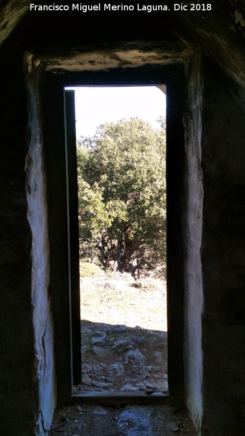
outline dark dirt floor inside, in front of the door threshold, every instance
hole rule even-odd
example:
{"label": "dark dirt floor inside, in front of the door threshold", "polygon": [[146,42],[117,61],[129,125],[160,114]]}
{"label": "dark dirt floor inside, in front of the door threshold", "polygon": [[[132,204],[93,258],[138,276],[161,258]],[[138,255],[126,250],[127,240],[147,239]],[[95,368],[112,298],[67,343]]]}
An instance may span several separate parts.
{"label": "dark dirt floor inside, in front of the door threshold", "polygon": [[187,411],[171,405],[58,406],[49,436],[196,436]]}

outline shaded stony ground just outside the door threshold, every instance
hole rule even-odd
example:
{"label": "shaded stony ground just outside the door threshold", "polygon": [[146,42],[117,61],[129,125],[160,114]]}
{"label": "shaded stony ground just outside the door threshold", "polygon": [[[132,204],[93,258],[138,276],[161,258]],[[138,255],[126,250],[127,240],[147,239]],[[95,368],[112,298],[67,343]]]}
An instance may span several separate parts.
{"label": "shaded stony ground just outside the door threshold", "polygon": [[[82,346],[82,384],[75,386],[76,392],[168,390],[167,362],[158,351],[167,348],[166,332],[107,324],[96,328],[95,324],[91,329],[84,327],[82,334],[86,340]],[[144,354],[149,348],[147,360]],[[149,364],[149,355],[155,365]]]}

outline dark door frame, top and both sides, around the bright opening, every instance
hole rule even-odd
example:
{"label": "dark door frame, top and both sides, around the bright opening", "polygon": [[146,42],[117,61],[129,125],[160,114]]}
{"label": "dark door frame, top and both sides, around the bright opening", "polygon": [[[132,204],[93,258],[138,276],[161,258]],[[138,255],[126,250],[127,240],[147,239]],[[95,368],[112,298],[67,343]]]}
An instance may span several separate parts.
{"label": "dark door frame, top and both sides, around the bright opening", "polygon": [[[125,74],[126,73],[126,74]],[[73,385],[81,372],[75,358],[80,350],[80,310],[77,297],[68,295],[71,268],[79,271],[76,260],[70,258],[64,240],[67,232],[67,187],[64,175],[64,129],[62,127],[63,87],[86,85],[152,85],[167,83],[167,275],[168,275],[168,383],[171,394],[183,392],[183,278],[181,246],[181,186],[183,168],[183,70],[174,66],[115,69],[113,72],[83,72],[76,75],[45,74],[45,87],[52,93],[44,99],[45,144],[49,176],[49,231],[51,241],[52,303],[55,326],[56,365],[60,398],[74,396]],[[123,81],[123,83],[122,83]],[[69,179],[70,180],[70,179]],[[69,192],[68,192],[69,194]],[[71,202],[70,202],[71,206]],[[70,212],[69,212],[70,213]],[[62,240],[61,240],[62,237]],[[67,244],[69,241],[67,240]],[[73,250],[70,250],[73,256]],[[58,256],[57,256],[58,254]],[[79,256],[77,257],[79,259]],[[74,259],[73,259],[74,260]],[[77,274],[75,274],[77,280]],[[79,281],[79,277],[78,277]],[[70,288],[71,289],[71,288]],[[78,337],[79,325],[79,337]],[[78,368],[79,366],[79,368]]]}

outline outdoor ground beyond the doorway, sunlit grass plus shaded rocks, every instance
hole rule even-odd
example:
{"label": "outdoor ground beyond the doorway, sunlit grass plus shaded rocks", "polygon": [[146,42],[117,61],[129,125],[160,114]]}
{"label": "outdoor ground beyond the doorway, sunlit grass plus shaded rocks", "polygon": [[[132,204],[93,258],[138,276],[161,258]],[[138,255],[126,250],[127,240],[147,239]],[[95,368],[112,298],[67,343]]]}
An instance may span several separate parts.
{"label": "outdoor ground beyond the doorway, sunlit grass plus shaded rocks", "polygon": [[82,384],[75,392],[167,392],[166,310],[161,280],[135,282],[118,273],[83,278]]}

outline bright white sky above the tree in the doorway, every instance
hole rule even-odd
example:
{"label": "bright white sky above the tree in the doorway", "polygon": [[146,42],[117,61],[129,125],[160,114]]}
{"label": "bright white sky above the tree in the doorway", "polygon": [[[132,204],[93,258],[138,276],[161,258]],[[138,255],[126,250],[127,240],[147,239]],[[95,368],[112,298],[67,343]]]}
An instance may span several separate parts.
{"label": "bright white sky above the tree in the doorway", "polygon": [[105,121],[122,118],[143,118],[153,128],[156,120],[166,116],[166,96],[155,86],[128,87],[76,87],[76,137],[93,136],[96,128]]}

